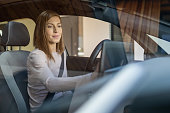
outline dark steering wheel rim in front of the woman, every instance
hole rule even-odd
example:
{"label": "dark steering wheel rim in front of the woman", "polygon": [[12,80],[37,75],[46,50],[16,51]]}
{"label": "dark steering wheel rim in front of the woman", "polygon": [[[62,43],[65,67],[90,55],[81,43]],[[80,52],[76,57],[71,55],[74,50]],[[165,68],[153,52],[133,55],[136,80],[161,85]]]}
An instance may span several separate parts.
{"label": "dark steering wheel rim in front of the woman", "polygon": [[97,58],[99,52],[100,52],[100,51],[102,50],[102,48],[103,48],[103,43],[106,42],[106,41],[111,41],[111,40],[109,40],[109,39],[104,39],[104,40],[102,40],[102,41],[95,47],[95,49],[93,50],[93,52],[92,52],[92,54],[90,55],[90,58],[89,58],[89,60],[88,60],[88,62],[87,62],[87,65],[86,65],[85,70],[84,70],[85,72],[87,72],[87,71],[92,72],[92,71],[95,70],[95,68],[96,68],[96,58]]}

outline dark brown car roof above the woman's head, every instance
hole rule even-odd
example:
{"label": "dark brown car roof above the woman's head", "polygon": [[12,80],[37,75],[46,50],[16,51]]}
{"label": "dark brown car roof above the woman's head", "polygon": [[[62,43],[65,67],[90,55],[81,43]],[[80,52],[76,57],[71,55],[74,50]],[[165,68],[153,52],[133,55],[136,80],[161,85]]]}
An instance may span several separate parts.
{"label": "dark brown car roof above the woman's head", "polygon": [[54,10],[60,15],[93,17],[92,8],[80,0],[1,0],[0,21],[36,17],[44,10]]}

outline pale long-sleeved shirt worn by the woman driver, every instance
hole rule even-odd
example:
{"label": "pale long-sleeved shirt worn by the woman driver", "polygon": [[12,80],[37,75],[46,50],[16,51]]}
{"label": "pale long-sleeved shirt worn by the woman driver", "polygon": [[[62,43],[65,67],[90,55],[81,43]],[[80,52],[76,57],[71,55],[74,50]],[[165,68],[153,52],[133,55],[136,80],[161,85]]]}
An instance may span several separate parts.
{"label": "pale long-sleeved shirt worn by the woman driver", "polygon": [[[65,52],[64,52],[65,54]],[[39,108],[48,92],[56,92],[54,98],[62,95],[62,91],[73,89],[80,81],[90,81],[91,74],[67,77],[66,54],[64,55],[64,70],[62,77],[58,77],[61,65],[61,55],[52,53],[54,60],[47,60],[46,54],[39,50],[33,50],[27,59],[28,70],[28,95],[31,111]],[[53,98],[53,99],[54,99]]]}

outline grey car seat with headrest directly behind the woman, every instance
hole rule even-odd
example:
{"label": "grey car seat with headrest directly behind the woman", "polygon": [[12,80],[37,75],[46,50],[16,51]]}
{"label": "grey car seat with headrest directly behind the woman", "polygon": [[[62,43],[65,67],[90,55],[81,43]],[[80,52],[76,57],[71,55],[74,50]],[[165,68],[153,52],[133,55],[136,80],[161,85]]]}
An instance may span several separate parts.
{"label": "grey car seat with headrest directly behind the woman", "polygon": [[[26,46],[29,32],[18,22],[9,22],[3,29],[1,45]],[[29,96],[27,93],[28,51],[5,51],[0,55],[0,112],[28,113]]]}

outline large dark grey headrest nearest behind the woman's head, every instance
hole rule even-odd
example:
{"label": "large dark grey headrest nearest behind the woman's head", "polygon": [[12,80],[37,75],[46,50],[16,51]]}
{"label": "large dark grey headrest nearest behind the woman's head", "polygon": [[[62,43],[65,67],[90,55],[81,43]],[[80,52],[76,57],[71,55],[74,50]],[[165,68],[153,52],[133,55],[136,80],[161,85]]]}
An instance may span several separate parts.
{"label": "large dark grey headrest nearest behind the woman's head", "polygon": [[4,46],[26,46],[30,36],[27,27],[19,22],[8,22],[2,30],[1,44]]}

